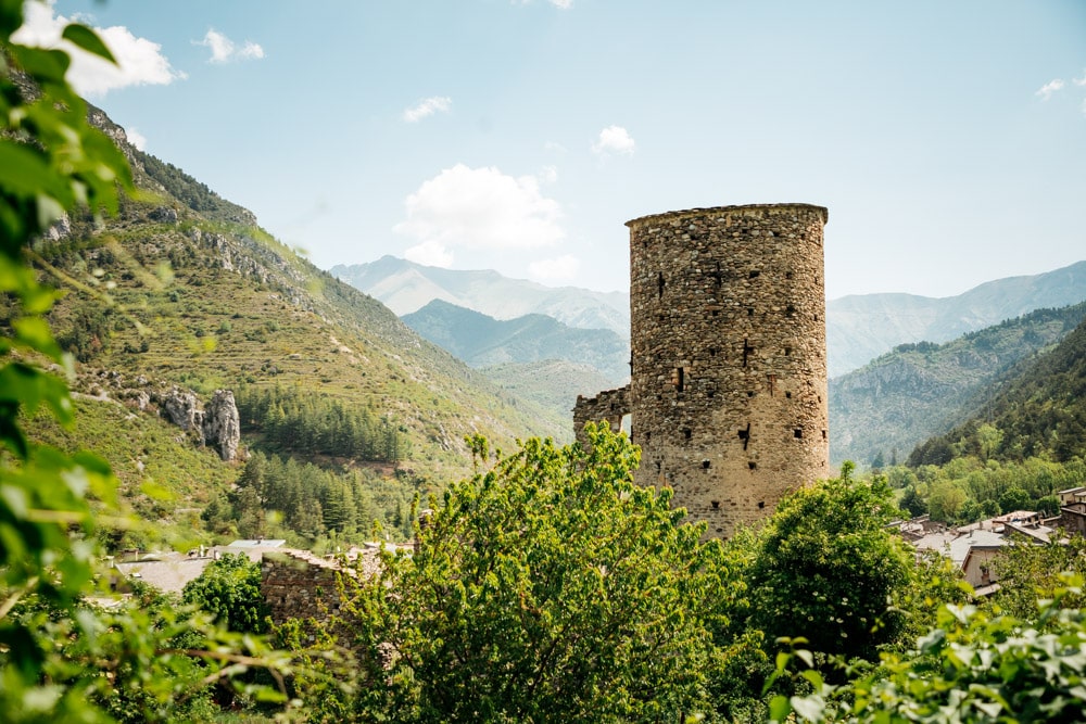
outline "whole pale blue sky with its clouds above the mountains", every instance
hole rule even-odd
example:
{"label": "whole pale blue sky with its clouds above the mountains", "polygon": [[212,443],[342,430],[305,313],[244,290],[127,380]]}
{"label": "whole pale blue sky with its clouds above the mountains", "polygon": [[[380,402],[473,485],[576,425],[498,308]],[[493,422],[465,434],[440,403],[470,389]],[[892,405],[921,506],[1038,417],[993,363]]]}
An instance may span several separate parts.
{"label": "whole pale blue sky with its clouds above the mountains", "polygon": [[826,294],[1086,258],[1086,2],[56,0],[88,98],[320,267],[628,285],[639,216],[830,208]]}

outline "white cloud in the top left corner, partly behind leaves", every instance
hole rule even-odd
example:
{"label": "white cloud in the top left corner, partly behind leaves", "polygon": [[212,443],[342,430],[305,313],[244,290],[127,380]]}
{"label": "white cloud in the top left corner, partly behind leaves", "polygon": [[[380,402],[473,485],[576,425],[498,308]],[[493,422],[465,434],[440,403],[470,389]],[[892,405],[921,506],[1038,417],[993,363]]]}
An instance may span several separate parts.
{"label": "white cloud in the top left corner, partly behind leaves", "polygon": [[137,38],[124,26],[94,28],[116,59],[117,65],[113,65],[61,40],[64,26],[72,20],[55,14],[52,0],[27,2],[24,11],[26,22],[12,39],[28,46],[60,48],[71,54],[67,79],[80,94],[104,96],[127,86],[166,86],[186,77],[169,65],[161,45]]}

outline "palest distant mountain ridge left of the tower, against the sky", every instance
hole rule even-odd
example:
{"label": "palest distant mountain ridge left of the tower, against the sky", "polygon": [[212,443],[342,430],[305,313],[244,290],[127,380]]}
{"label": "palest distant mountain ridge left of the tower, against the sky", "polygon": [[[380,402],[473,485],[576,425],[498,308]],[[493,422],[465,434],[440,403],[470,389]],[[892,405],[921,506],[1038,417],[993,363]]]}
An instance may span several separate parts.
{"label": "palest distant mountain ridge left of the tower, against the sky", "polygon": [[441,300],[498,320],[542,314],[578,329],[608,329],[623,339],[630,336],[630,296],[624,292],[544,287],[492,270],[442,269],[394,256],[337,265],[329,274],[377,297],[400,316]]}

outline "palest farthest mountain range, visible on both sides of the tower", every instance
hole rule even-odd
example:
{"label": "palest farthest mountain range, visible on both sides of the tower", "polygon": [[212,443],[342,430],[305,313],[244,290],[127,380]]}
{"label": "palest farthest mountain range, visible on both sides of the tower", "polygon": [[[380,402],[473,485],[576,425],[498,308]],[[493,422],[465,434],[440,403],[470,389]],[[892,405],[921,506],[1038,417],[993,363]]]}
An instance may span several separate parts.
{"label": "palest farthest mountain range, visible on both sides of the tower", "polygon": [[[377,297],[401,316],[417,312],[433,300],[442,300],[498,320],[542,314],[569,327],[609,329],[627,340],[630,338],[629,295],[622,292],[548,288],[509,279],[496,271],[442,269],[393,256],[370,264],[334,266],[330,274]],[[1045,274],[989,281],[956,296],[887,293],[830,300],[826,302],[829,374],[835,378],[858,369],[899,344],[948,342],[1034,309],[1062,307],[1083,300],[1086,300],[1086,261]],[[452,343],[455,330],[449,335],[446,340]],[[470,343],[462,340],[456,344]],[[502,353],[495,350],[493,354]]]}

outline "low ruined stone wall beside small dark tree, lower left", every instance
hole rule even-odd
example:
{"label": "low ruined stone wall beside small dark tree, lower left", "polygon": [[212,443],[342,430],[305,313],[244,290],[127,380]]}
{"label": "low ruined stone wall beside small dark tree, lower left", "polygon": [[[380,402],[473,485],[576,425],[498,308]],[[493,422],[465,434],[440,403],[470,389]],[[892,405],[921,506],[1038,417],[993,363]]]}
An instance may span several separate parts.
{"label": "low ruined stone wall beside small dark tree, lower left", "polygon": [[261,593],[272,620],[328,619],[339,613],[339,581],[355,571],[304,550],[264,554],[261,563]]}

